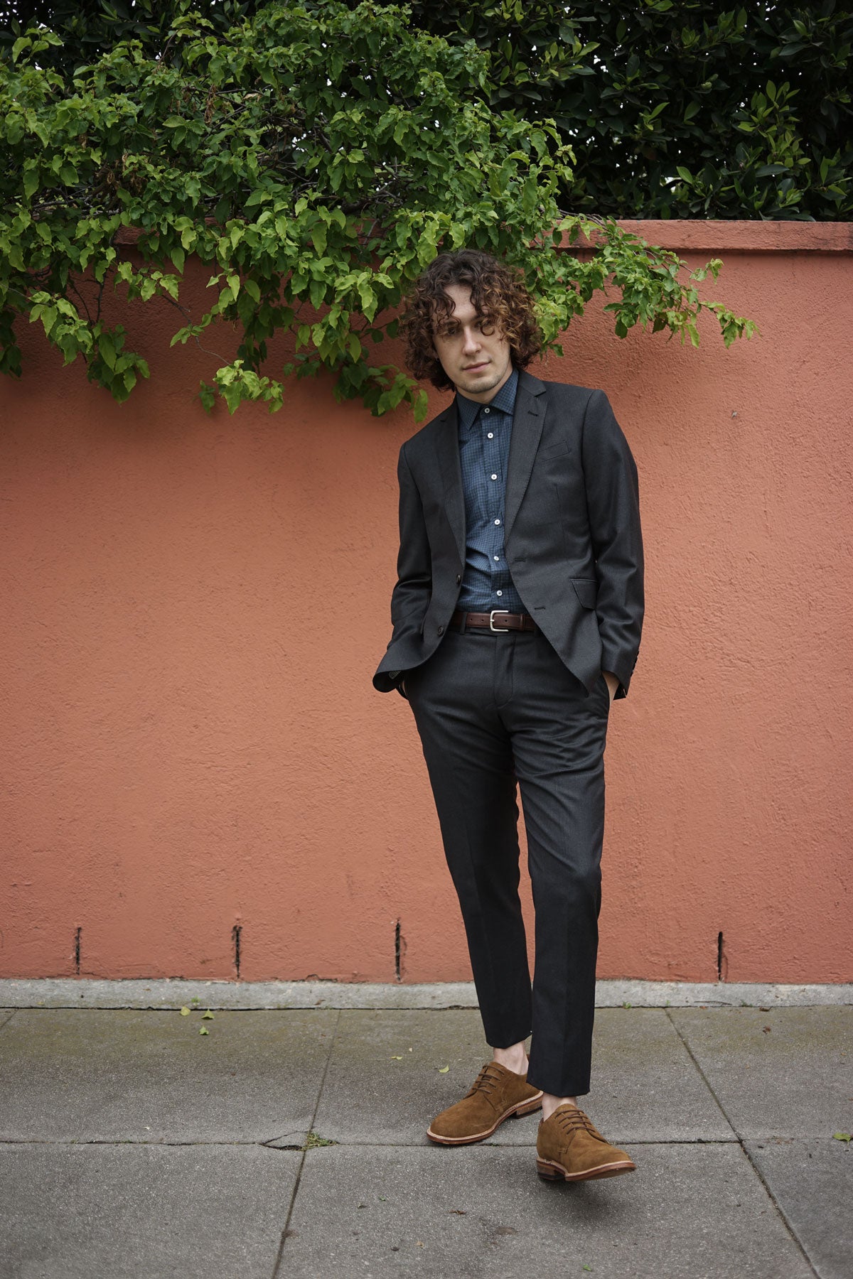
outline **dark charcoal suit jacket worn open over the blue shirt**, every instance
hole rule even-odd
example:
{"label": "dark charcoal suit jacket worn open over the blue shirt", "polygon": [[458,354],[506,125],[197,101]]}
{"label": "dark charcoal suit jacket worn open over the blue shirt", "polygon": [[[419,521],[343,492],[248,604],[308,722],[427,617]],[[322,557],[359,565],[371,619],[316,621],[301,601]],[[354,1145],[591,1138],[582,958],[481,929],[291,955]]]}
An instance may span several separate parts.
{"label": "dark charcoal suit jacket worn open over the blue shirt", "polygon": [[[441,643],[466,564],[466,508],[451,404],[400,449],[394,633],[373,675],[395,688]],[[592,692],[624,697],[643,620],[637,467],[604,391],[522,373],[506,468],[506,564],[524,606]],[[495,618],[500,625],[500,616]]]}

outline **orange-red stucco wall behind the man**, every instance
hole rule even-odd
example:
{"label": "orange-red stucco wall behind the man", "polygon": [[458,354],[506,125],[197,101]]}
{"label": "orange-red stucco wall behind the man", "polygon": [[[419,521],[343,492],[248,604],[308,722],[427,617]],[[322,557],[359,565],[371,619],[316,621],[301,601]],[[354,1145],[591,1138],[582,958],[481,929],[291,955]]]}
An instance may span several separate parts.
{"label": "orange-red stucco wall behind the man", "polygon": [[[620,341],[599,302],[532,370],[607,391],[641,480],[599,975],[850,981],[850,228],[639,229],[719,252],[761,338]],[[411,710],[371,687],[408,412],[320,380],[208,418],[216,356],[110,306],[152,368],[127,404],[35,326],[0,388],[0,975],[469,978]]]}

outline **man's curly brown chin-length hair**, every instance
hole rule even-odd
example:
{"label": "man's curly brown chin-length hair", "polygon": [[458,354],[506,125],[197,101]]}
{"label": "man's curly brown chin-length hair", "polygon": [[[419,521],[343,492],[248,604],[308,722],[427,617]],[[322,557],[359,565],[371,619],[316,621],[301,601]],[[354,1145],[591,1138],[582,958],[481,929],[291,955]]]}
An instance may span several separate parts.
{"label": "man's curly brown chin-length hair", "polygon": [[464,248],[439,253],[416,281],[402,321],[409,372],[439,390],[453,388],[432,344],[435,326],[453,312],[445,292],[453,284],[471,289],[478,313],[508,339],[515,368],[527,368],[542,349],[542,334],[522,272],[490,253]]}

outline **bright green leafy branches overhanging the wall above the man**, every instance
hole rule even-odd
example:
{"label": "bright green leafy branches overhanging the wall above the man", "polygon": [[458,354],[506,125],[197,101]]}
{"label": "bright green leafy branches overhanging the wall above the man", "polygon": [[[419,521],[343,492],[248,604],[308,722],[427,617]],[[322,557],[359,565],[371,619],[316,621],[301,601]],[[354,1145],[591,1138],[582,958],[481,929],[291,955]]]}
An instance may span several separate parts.
{"label": "bright green leafy branches overhanging the wall above the man", "polygon": [[[120,41],[68,75],[45,28],[0,64],[0,368],[20,373],[15,325],[41,324],[70,363],[127,399],[145,359],[102,318],[104,290],[166,298],[175,343],[219,320],[239,333],[201,398],[280,408],[285,380],[329,370],[375,414],[426,394],[376,347],[396,333],[411,281],[437,252],[474,246],[519,266],[549,347],[597,290],[615,331],[698,341],[710,311],[729,344],[751,321],[703,301],[671,252],[613,221],[567,216],[572,152],[551,120],[485,97],[490,54],[413,28],[405,8],[269,4],[229,31],[178,14],[161,56]],[[141,262],[121,256],[137,231]],[[591,247],[575,256],[569,246]],[[208,310],[182,302],[188,255],[210,263]],[[267,370],[269,344],[295,357]],[[558,347],[559,349],[559,347]]]}

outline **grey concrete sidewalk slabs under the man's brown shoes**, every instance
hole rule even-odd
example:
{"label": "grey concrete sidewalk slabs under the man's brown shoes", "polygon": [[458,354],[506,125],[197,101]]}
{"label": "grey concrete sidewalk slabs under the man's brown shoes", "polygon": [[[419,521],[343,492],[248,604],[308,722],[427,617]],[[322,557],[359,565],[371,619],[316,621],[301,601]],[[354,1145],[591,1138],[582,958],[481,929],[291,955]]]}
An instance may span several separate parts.
{"label": "grey concrete sidewalk slabs under the man's brown shoes", "polygon": [[853,1275],[853,1007],[600,1009],[582,1105],[638,1170],[560,1186],[537,1115],[425,1136],[491,1055],[474,1009],[182,986],[0,1012],[3,1279]]}

